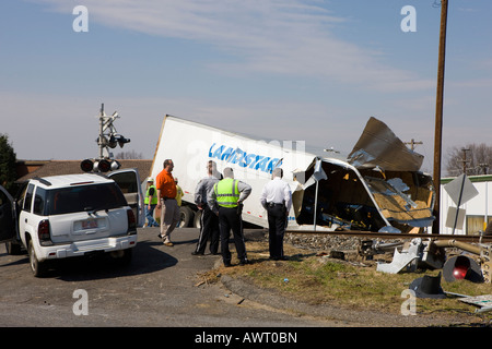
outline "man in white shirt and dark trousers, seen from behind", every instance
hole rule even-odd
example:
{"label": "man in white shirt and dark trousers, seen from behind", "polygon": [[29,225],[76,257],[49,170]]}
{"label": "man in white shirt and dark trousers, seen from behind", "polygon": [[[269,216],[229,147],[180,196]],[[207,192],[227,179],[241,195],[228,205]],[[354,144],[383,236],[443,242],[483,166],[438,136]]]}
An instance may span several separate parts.
{"label": "man in white shirt and dark trousers, seen from behind", "polygon": [[268,213],[268,237],[271,260],[285,260],[283,255],[283,236],[288,225],[289,212],[292,205],[292,192],[289,184],[282,180],[283,170],[276,168],[272,180],[265,184],[260,196],[261,206]]}

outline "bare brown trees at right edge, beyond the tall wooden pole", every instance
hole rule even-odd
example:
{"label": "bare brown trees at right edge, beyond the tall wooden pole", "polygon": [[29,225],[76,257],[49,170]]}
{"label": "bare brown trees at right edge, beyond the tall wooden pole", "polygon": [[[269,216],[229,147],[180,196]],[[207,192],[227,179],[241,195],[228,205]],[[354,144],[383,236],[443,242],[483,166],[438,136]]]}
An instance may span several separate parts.
{"label": "bare brown trees at right edge, beyond the tall wooden pole", "polygon": [[454,146],[447,149],[446,171],[448,176],[489,174],[491,165],[492,146],[484,143],[467,144],[462,147]]}

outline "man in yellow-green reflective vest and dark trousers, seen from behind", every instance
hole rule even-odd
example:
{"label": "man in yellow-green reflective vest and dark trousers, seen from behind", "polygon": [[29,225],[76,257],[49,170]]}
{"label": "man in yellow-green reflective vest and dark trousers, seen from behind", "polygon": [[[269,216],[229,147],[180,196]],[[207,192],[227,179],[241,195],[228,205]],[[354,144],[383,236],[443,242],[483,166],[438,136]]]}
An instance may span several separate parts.
{"label": "man in yellow-green reflective vest and dark trousers, seen from behind", "polygon": [[246,255],[246,244],[244,242],[242,207],[251,193],[251,186],[234,179],[232,168],[224,169],[224,179],[213,185],[208,202],[210,209],[219,215],[219,229],[221,233],[222,261],[225,266],[231,266],[231,251],[229,249],[229,238],[231,230],[234,234],[237,258],[239,265],[249,263]]}

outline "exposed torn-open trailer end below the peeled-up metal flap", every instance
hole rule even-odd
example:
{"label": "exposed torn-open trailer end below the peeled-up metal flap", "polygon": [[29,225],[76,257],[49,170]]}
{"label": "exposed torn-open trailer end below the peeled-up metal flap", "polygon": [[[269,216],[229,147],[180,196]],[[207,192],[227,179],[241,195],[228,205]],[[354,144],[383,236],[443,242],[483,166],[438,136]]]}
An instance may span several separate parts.
{"label": "exposed torn-open trailer end below the peeled-up metal flap", "polygon": [[[433,190],[429,176],[358,169],[330,158],[324,158],[321,164],[327,179],[307,183],[311,185],[301,192],[302,204],[300,198],[297,205],[294,202],[300,209],[298,225],[313,225],[316,215],[316,229],[423,232],[432,226]],[[312,173],[314,170],[309,169],[306,176]]]}

